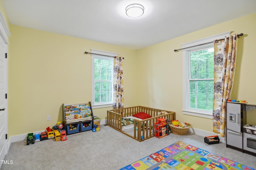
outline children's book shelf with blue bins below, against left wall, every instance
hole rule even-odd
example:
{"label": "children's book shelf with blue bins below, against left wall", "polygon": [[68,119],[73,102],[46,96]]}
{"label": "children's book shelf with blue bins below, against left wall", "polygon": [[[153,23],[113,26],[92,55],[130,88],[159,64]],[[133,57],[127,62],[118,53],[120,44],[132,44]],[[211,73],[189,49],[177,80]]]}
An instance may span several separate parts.
{"label": "children's book shelf with blue bins below, against left wall", "polygon": [[93,113],[91,102],[62,104],[62,121],[67,135],[92,130]]}

